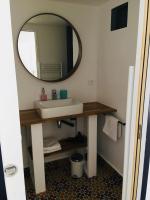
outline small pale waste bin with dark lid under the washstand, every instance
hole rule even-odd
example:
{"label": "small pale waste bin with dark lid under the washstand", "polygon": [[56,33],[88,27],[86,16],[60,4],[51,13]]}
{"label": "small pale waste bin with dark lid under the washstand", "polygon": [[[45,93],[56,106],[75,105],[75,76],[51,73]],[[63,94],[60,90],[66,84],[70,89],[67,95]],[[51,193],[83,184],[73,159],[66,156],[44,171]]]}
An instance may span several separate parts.
{"label": "small pale waste bin with dark lid under the washstand", "polygon": [[83,175],[83,155],[75,153],[71,156],[71,175],[73,178],[80,178]]}

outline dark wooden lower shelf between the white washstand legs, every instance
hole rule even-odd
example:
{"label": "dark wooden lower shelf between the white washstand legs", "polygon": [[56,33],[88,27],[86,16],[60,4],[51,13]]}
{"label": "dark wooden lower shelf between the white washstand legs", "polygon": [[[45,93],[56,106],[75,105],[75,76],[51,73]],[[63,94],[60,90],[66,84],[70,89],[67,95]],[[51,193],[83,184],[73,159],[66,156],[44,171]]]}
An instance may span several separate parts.
{"label": "dark wooden lower shelf between the white washstand legs", "polygon": [[[49,157],[49,156],[54,156],[54,155],[58,155],[60,153],[64,153],[64,152],[68,152],[68,151],[72,151],[72,150],[77,150],[79,148],[84,148],[87,147],[87,138],[84,137],[83,141],[79,141],[77,138],[67,138],[64,140],[60,140],[60,145],[61,145],[61,150],[53,152],[53,153],[47,153],[44,154],[44,157]],[[28,147],[28,151],[30,154],[31,159],[33,160],[33,156],[32,156],[32,147]]]}

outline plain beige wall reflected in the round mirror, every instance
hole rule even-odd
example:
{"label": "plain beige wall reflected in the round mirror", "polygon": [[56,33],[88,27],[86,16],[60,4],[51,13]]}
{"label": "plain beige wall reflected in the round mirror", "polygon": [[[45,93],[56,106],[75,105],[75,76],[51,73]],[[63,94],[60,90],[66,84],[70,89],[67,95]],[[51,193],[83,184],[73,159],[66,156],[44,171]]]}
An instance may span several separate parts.
{"label": "plain beige wall reflected in the round mirror", "polygon": [[[23,30],[36,33],[37,56],[42,64],[67,64],[66,27],[27,23]],[[59,48],[58,48],[59,47]]]}

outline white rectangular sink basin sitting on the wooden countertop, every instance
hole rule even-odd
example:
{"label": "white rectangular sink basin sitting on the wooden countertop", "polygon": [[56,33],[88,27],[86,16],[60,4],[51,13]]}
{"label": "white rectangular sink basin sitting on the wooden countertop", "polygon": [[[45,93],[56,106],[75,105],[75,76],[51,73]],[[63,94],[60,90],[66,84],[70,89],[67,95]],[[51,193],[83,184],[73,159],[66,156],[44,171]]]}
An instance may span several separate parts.
{"label": "white rectangular sink basin sitting on the wooden countertop", "polygon": [[36,101],[35,108],[41,118],[46,119],[80,114],[83,112],[83,103],[72,98]]}

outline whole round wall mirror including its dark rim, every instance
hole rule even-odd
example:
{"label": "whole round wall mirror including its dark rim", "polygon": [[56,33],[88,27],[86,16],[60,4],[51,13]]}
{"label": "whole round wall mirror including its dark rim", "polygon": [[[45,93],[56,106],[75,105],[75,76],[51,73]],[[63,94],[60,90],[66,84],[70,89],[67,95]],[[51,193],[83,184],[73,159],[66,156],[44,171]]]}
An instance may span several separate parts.
{"label": "whole round wall mirror including its dark rim", "polygon": [[31,75],[56,82],[76,71],[81,61],[82,45],[79,34],[68,20],[44,13],[33,16],[22,26],[18,54]]}

